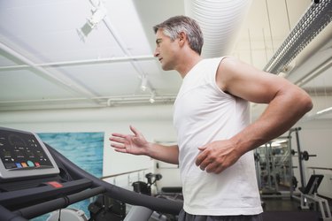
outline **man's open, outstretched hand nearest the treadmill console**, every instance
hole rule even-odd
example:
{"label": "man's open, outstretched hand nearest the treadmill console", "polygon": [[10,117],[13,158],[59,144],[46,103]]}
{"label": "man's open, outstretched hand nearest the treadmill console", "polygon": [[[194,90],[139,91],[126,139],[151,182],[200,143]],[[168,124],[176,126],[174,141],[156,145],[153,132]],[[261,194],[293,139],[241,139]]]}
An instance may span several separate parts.
{"label": "man's open, outstretched hand nearest the treadmill console", "polygon": [[145,140],[142,133],[140,133],[134,126],[130,126],[133,134],[112,133],[110,137],[111,147],[115,151],[121,153],[128,153],[133,155],[145,155],[149,142]]}

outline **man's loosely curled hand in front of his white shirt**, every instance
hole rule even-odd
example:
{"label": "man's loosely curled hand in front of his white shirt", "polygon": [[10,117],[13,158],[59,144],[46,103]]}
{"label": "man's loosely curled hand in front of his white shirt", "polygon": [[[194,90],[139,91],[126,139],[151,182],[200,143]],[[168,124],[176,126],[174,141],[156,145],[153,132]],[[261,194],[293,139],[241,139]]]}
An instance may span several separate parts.
{"label": "man's loosely curled hand in front of his white shirt", "polygon": [[235,164],[241,156],[230,140],[213,141],[198,149],[202,152],[197,156],[197,166],[203,171],[216,174]]}

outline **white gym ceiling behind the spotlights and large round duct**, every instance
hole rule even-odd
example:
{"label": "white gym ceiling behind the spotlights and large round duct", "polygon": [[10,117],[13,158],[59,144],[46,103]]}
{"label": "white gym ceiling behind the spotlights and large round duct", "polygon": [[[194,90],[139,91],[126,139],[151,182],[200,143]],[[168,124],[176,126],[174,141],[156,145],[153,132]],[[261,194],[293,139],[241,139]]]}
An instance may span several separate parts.
{"label": "white gym ceiling behind the spotlights and large round duct", "polygon": [[[177,72],[162,71],[152,56],[152,27],[188,14],[188,1],[106,0],[104,20],[82,37],[80,33],[89,31],[87,18],[96,2],[0,0],[0,111],[174,102],[181,78]],[[263,69],[310,4],[252,0],[241,26],[234,25],[237,37],[222,54]],[[291,63],[294,68],[287,76],[299,83],[327,60],[326,70],[300,85],[317,103],[313,112],[332,106],[331,30],[329,24]],[[141,89],[143,76],[149,82],[146,91]],[[254,115],[259,107],[253,105]]]}

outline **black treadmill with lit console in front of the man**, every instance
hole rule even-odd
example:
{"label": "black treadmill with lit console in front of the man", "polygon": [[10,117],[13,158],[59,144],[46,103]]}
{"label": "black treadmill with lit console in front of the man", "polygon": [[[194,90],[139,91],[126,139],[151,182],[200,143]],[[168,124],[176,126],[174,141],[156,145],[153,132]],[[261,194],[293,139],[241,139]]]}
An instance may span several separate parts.
{"label": "black treadmill with lit console in front of the man", "polygon": [[[153,211],[179,214],[182,202],[138,194],[97,179],[42,143],[35,133],[0,127],[0,220],[27,221],[104,194],[133,205],[124,220]],[[61,220],[61,219],[58,219]]]}

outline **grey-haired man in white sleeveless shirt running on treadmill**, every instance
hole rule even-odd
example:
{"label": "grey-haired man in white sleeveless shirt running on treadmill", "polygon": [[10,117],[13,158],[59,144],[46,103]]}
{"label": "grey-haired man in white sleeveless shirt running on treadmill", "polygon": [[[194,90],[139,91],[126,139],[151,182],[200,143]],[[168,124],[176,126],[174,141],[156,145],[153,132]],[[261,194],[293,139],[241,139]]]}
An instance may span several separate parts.
{"label": "grey-haired man in white sleeveless shirt running on treadmill", "polygon": [[[185,16],[154,27],[163,70],[183,79],[174,102],[178,145],[166,147],[134,134],[112,133],[119,152],[179,164],[183,210],[179,220],[261,220],[252,149],[285,133],[312,109],[309,95],[288,80],[234,57],[202,59],[203,36]],[[268,103],[250,124],[249,102]]]}

